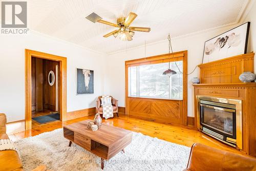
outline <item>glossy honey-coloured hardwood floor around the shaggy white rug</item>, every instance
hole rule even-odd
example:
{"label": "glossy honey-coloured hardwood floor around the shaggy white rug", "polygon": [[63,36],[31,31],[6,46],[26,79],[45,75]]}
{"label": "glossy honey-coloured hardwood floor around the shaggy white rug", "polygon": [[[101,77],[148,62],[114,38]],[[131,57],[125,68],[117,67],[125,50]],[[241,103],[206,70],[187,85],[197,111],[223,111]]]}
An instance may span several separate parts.
{"label": "glossy honey-coloured hardwood floor around the shaggy white rug", "polygon": [[[77,118],[69,120],[66,122],[55,121],[48,124],[42,124],[32,127],[29,131],[23,131],[15,134],[11,134],[9,137],[13,140],[26,138],[30,136],[35,136],[44,132],[53,131],[59,129],[63,124],[71,124],[79,122],[86,119],[94,119],[94,115]],[[244,154],[237,149],[221,143],[197,130],[192,126],[177,126],[168,123],[157,123],[149,120],[142,120],[134,117],[129,117],[124,114],[119,114],[119,118],[114,116],[114,118],[109,118],[107,120],[102,119],[106,124],[121,127],[126,130],[131,130],[134,132],[140,132],[144,135],[151,137],[157,137],[159,139],[185,145],[191,147],[195,142],[199,142],[211,147],[216,147],[219,149],[224,149],[227,151]]]}

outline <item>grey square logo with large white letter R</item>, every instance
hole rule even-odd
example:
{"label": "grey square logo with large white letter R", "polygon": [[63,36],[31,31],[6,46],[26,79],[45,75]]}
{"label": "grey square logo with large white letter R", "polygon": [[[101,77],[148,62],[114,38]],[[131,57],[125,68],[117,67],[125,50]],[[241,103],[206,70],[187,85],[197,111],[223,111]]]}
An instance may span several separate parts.
{"label": "grey square logo with large white letter R", "polygon": [[27,28],[27,2],[2,2],[2,28]]}

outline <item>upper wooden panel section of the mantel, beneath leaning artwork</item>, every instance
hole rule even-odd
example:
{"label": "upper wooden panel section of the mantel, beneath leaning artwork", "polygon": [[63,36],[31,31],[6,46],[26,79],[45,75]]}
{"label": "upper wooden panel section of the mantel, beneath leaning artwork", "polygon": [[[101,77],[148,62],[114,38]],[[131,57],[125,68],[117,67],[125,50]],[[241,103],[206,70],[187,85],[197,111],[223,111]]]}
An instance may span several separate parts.
{"label": "upper wooden panel section of the mantel, beneath leaning artwork", "polygon": [[203,63],[200,68],[200,83],[241,82],[243,72],[253,73],[254,53],[237,55],[217,61]]}

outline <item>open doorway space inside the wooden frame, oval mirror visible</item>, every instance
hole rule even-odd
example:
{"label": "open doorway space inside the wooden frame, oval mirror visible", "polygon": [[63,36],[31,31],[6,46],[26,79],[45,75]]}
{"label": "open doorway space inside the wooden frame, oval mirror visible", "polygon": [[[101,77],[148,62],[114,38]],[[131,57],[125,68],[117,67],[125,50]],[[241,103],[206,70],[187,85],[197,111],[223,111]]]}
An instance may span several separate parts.
{"label": "open doorway space inside the wooden frame, oval mirror visible", "polygon": [[32,127],[59,121],[59,61],[31,58]]}

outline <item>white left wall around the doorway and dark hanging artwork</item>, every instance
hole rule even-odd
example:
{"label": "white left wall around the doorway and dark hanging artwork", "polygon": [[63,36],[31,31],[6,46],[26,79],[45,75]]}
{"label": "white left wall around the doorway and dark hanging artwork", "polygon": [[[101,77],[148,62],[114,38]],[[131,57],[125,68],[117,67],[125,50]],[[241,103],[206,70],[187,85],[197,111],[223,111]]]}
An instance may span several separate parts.
{"label": "white left wall around the doorway and dark hanging artwork", "polygon": [[[104,55],[38,33],[0,35],[0,113],[25,119],[25,49],[67,57],[67,111],[95,106],[103,93]],[[76,68],[94,70],[94,94],[76,95]]]}

